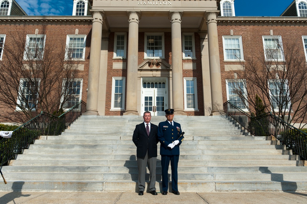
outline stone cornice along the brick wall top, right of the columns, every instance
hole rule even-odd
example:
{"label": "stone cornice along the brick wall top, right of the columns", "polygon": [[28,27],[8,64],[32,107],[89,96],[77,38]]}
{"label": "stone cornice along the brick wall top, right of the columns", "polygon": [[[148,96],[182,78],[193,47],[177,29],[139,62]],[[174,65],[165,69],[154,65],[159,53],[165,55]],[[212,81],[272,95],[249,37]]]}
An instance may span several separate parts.
{"label": "stone cornice along the brick wall top, right of the columns", "polygon": [[217,17],[218,25],[307,25],[305,17]]}

